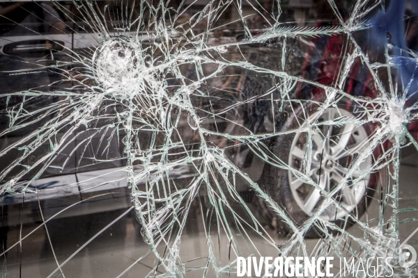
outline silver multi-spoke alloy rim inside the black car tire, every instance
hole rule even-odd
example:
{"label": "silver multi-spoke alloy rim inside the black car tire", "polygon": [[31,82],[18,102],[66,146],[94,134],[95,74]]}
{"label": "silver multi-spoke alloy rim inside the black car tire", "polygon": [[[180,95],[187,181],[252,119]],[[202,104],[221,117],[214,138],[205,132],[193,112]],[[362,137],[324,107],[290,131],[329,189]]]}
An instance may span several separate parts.
{"label": "silver multi-spoke alloy rim inside the black car tire", "polygon": [[[368,135],[364,126],[350,124],[349,120],[354,118],[353,114],[344,109],[328,108],[321,114],[318,112],[311,115],[309,120],[316,119],[318,123],[324,123],[314,130],[312,136],[297,133],[293,138],[288,160],[293,170],[288,171],[288,179],[297,205],[307,215],[312,215],[318,208],[325,195],[323,193],[335,193],[334,188],[337,187],[340,189],[332,196],[333,203],[320,214],[323,220],[343,218],[364,197],[371,174],[359,178],[359,171],[370,167],[372,161],[371,156],[359,163],[356,161]],[[301,127],[306,125],[307,122]],[[309,138],[312,138],[312,142],[309,142]],[[307,154],[312,155],[311,159],[308,159]],[[307,167],[309,161],[311,165]],[[350,171],[355,163],[359,167]],[[295,170],[300,171],[299,177],[309,176],[311,183],[316,183],[316,186],[300,181],[293,174]]]}

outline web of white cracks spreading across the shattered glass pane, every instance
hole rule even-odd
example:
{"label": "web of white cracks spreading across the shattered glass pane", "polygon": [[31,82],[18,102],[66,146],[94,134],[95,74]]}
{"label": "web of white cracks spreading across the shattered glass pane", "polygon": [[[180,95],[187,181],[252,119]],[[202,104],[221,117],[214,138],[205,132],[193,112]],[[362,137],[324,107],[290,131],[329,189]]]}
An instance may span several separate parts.
{"label": "web of white cracks spreading across the shattered glass pane", "polygon": [[[282,1],[213,0],[197,10],[188,1],[73,1],[75,10],[52,1],[65,26],[44,23],[61,37],[31,34],[65,58],[49,47],[26,69],[3,71],[55,76],[1,94],[0,156],[10,160],[0,172],[3,199],[41,196],[37,180],[94,165],[121,174],[62,186],[127,181],[132,207],[103,230],[134,210],[149,252],[120,276],[151,254],[150,277],[233,275],[237,256],[263,256],[254,238],[275,256],[345,257],[355,268],[359,258],[396,261],[400,150],[418,149],[408,129],[417,120],[408,61],[417,54],[376,24],[395,3],[324,3],[326,24],[298,26],[281,19]],[[199,267],[180,255],[193,210],[206,243]],[[286,236],[278,241],[272,229]],[[311,248],[313,235],[320,240]],[[49,277],[65,275],[89,242],[56,260]],[[395,266],[394,276],[414,277],[416,266]]]}

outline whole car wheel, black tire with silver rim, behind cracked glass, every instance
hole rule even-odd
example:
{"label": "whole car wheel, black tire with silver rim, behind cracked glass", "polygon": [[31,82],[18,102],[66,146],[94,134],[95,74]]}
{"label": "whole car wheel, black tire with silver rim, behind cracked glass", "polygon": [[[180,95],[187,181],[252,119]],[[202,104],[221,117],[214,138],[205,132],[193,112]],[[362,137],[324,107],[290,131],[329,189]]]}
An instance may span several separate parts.
{"label": "whole car wheel, black tire with silver rim, behind cracked glass", "polygon": [[[280,131],[295,131],[300,127],[304,127],[307,124],[307,115],[309,115],[309,119],[316,119],[316,122],[327,122],[329,120],[341,120],[341,116],[344,118],[355,117],[356,119],[361,119],[362,111],[364,111],[361,106],[350,104],[350,101],[341,100],[339,101],[338,107],[327,108],[323,113],[320,113],[318,112],[318,106],[313,103],[313,101],[306,101],[303,106],[293,107],[293,111],[288,113],[288,118],[282,124]],[[327,131],[331,131],[329,136],[331,140],[326,140],[326,136],[323,135],[327,134]],[[363,124],[362,126],[353,126],[351,124],[318,125],[318,131],[315,131],[312,136],[310,154],[311,170],[309,177],[325,191],[330,191],[335,188],[339,181],[345,177],[346,170],[343,168],[350,169],[351,163],[355,161],[357,154],[364,148],[362,142],[369,138],[372,133],[373,126],[368,124]],[[318,140],[318,138],[322,138],[324,142]],[[293,220],[297,227],[302,226],[325,199],[321,195],[320,190],[308,183],[300,181],[291,171],[293,169],[303,172],[303,165],[308,164],[308,141],[307,132],[291,132],[286,136],[277,137],[271,150],[275,156],[280,158],[289,167],[283,169],[266,164],[260,180],[265,192],[281,208],[284,208],[289,218]],[[344,142],[346,142],[345,145]],[[344,147],[341,147],[343,145]],[[345,152],[348,149],[351,151],[351,154]],[[365,158],[360,164],[360,167],[362,169],[370,167],[376,155],[375,151],[373,155]],[[358,177],[358,172],[354,172],[353,177]],[[348,177],[347,181],[348,183],[346,184],[348,184],[348,187],[344,190],[339,190],[334,195],[334,199],[346,211],[355,215],[358,219],[366,211],[367,199],[373,196],[378,181],[378,174],[369,173],[365,177],[360,178],[360,181],[357,183],[353,183],[353,179],[350,177]],[[263,215],[269,218],[272,227],[277,229],[279,234],[286,235],[291,233],[288,225],[284,221],[278,220],[261,198],[256,198],[256,202],[263,209]],[[268,211],[266,211],[266,207]],[[347,217],[348,214],[346,211],[330,205],[320,215],[320,218],[334,222],[339,227],[347,228],[353,222]],[[305,236],[308,238],[323,237],[323,232],[313,225]]]}

